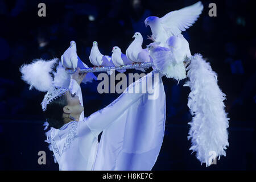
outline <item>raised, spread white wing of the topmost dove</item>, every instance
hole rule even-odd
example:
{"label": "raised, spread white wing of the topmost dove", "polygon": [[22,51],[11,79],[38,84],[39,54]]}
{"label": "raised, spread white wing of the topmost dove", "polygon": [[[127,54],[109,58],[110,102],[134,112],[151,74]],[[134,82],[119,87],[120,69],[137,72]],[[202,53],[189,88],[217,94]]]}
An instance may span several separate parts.
{"label": "raised, spread white wing of the topmost dove", "polygon": [[196,22],[203,9],[204,6],[199,1],[183,9],[171,11],[160,18],[160,23],[168,36],[179,35],[181,31],[185,31]]}

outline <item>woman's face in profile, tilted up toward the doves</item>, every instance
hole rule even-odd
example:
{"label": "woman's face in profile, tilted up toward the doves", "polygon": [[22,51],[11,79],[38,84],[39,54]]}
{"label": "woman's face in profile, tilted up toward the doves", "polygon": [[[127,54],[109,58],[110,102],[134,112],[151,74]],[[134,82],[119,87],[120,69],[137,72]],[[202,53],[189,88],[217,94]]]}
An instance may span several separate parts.
{"label": "woman's face in profile, tilted up toward the doves", "polygon": [[84,107],[81,105],[79,101],[79,97],[76,94],[72,94],[70,91],[66,93],[67,101],[68,101],[68,109],[71,112],[71,115],[81,114],[84,110]]}

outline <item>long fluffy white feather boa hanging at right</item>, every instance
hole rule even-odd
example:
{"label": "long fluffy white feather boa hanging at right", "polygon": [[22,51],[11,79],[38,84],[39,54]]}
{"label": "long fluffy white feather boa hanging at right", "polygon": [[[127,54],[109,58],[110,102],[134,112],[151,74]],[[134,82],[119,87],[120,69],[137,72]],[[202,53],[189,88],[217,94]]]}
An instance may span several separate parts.
{"label": "long fluffy white feather boa hanging at right", "polygon": [[[217,74],[212,71],[209,63],[200,54],[192,56],[188,65],[187,81],[184,86],[191,88],[188,96],[188,107],[193,115],[188,140],[196,152],[196,158],[206,166],[212,159],[226,156],[225,149],[229,146],[229,118],[225,113],[225,94],[217,84]],[[192,153],[193,153],[192,152]]]}

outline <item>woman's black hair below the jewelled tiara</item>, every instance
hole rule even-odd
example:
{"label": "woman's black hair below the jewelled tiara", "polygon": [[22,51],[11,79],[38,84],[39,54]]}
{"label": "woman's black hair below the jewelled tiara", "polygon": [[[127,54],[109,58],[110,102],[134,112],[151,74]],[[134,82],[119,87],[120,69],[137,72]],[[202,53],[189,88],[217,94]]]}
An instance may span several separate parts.
{"label": "woman's black hair below the jewelled tiara", "polygon": [[44,111],[44,116],[49,126],[60,129],[64,125],[63,121],[63,107],[68,105],[67,96],[62,94],[55,98],[52,102],[47,104],[47,109]]}

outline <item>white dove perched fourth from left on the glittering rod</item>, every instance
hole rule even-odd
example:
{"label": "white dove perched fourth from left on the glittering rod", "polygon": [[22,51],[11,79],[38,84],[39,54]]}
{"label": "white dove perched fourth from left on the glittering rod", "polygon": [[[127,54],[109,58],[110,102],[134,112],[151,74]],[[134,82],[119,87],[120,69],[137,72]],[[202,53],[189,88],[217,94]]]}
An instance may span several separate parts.
{"label": "white dove perched fourth from left on the glittering rod", "polygon": [[135,39],[126,49],[126,56],[128,57],[128,59],[130,61],[133,61],[133,63],[143,63],[151,61],[147,49],[142,48],[143,37],[141,33],[135,32],[133,38]]}

